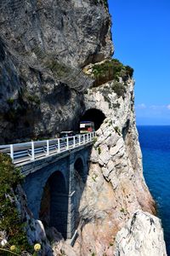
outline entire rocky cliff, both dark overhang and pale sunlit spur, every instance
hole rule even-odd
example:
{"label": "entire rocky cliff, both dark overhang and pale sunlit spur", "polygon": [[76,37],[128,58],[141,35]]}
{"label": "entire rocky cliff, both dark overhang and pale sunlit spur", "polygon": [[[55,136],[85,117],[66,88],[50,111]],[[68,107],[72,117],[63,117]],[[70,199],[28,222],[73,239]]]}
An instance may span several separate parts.
{"label": "entire rocky cliff, both dark overhang and pale sunlit spur", "polygon": [[106,76],[93,74],[93,63],[113,51],[106,1],[13,0],[0,8],[0,143],[77,129],[88,110],[102,116],[79,187],[74,247],[52,229],[52,252],[22,202],[30,241],[43,241],[42,255],[166,255],[161,224],[150,215],[155,203],[142,172],[132,75],[121,67],[115,76],[110,63]]}

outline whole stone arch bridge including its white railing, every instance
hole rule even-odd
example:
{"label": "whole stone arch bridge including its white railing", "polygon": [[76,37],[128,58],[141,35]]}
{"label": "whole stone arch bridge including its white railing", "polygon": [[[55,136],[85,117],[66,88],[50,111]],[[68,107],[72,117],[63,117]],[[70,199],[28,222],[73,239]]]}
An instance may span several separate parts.
{"label": "whole stone arch bridge including its white railing", "polygon": [[76,234],[94,136],[95,132],[89,132],[0,146],[25,175],[23,189],[33,217],[41,219],[45,227],[55,227],[65,239]]}

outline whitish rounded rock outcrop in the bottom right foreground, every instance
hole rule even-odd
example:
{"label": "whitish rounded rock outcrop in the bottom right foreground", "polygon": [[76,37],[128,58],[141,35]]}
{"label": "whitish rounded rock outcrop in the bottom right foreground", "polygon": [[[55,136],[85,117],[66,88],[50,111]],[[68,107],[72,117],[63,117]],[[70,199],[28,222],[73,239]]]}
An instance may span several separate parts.
{"label": "whitish rounded rock outcrop in the bottom right foreground", "polygon": [[167,255],[160,219],[141,210],[117,233],[115,242],[115,256]]}

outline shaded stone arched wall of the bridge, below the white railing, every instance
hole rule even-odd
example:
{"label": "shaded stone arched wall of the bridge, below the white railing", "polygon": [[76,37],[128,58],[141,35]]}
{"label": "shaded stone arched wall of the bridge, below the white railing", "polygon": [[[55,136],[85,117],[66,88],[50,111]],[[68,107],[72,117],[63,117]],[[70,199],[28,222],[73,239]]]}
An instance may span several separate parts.
{"label": "shaded stone arched wall of the bridge, below the white railing", "polygon": [[34,218],[54,226],[65,239],[74,236],[78,207],[88,176],[91,145],[22,166],[23,188]]}

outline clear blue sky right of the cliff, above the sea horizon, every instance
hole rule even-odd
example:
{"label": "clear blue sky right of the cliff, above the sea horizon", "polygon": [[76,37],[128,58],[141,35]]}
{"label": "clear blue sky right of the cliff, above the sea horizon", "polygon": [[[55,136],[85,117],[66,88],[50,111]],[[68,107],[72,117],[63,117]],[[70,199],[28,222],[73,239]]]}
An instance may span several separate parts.
{"label": "clear blue sky right of the cliff, above the sea horizon", "polygon": [[114,58],[133,67],[137,125],[170,125],[170,0],[109,0]]}

